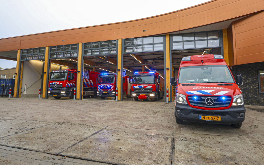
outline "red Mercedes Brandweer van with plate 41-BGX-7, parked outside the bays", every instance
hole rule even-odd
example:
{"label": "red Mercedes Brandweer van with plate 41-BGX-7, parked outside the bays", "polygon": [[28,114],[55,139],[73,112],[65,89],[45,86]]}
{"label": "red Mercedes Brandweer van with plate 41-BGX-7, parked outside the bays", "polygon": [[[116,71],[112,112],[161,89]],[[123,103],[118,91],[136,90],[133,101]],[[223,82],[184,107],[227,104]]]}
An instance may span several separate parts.
{"label": "red Mercedes Brandweer van with plate 41-BGX-7, parked outside the bays", "polygon": [[182,58],[176,86],[175,118],[182,120],[231,124],[240,128],[245,119],[242,77],[236,81],[222,55],[193,55]]}

